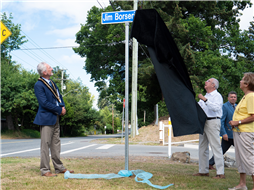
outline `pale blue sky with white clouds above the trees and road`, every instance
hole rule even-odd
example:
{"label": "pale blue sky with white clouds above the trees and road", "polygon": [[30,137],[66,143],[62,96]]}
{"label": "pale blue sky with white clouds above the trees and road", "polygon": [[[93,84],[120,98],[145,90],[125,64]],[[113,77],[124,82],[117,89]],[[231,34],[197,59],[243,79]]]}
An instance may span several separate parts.
{"label": "pale blue sky with white clouds above the trees and road", "polygon": [[[254,0],[252,0],[254,4]],[[14,24],[21,24],[21,34],[29,40],[21,49],[78,46],[75,34],[81,25],[86,23],[87,11],[93,6],[104,8],[108,0],[0,0],[1,14],[12,13]],[[241,29],[248,29],[253,21],[254,5],[243,12]],[[83,69],[85,58],[75,54],[72,48],[56,48],[44,50],[15,50],[12,59],[26,70],[36,72],[40,62],[47,62],[52,67],[67,69],[71,79],[82,81],[94,96],[93,107],[97,108],[99,93],[90,81],[90,74]],[[60,88],[60,87],[59,87]],[[63,94],[68,93],[68,89]]]}

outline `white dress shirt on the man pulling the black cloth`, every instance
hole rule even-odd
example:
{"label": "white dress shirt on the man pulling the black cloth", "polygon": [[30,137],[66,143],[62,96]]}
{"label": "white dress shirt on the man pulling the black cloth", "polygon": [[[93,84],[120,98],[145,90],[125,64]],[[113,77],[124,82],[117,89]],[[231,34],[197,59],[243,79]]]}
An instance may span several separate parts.
{"label": "white dress shirt on the man pulling the black cloth", "polygon": [[214,90],[211,93],[206,93],[205,97],[207,101],[199,100],[198,104],[204,110],[207,117],[221,117],[223,106],[221,94],[217,90]]}

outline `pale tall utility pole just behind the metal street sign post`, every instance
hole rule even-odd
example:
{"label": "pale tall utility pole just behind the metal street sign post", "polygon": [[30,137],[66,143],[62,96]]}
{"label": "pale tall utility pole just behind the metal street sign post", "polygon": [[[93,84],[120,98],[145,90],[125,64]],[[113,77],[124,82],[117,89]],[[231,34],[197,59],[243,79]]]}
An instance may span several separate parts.
{"label": "pale tall utility pole just behind the metal street sign post", "polygon": [[[133,10],[138,9],[138,0],[134,0]],[[136,136],[137,129],[137,85],[138,85],[138,42],[132,39],[132,100],[131,100],[131,137]]]}

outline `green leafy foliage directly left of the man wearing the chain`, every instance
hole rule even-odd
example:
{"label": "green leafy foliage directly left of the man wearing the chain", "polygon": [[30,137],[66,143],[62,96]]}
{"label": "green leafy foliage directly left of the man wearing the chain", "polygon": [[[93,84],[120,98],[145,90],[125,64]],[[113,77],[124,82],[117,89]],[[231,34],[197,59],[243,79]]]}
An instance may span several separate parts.
{"label": "green leafy foliage directly left of the man wearing the chain", "polygon": [[14,130],[14,124],[16,129],[18,124],[29,127],[38,108],[33,90],[38,75],[8,62],[0,62],[0,113],[6,116],[8,129]]}

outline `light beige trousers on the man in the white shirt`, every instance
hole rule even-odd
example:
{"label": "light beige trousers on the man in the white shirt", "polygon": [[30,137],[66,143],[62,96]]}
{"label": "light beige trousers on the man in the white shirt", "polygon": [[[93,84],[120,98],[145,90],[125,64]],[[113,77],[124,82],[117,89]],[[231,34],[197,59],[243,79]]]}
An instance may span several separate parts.
{"label": "light beige trousers on the man in the white shirt", "polygon": [[217,175],[224,174],[224,158],[220,144],[220,119],[207,120],[199,135],[199,173],[209,173],[209,143],[213,151]]}

